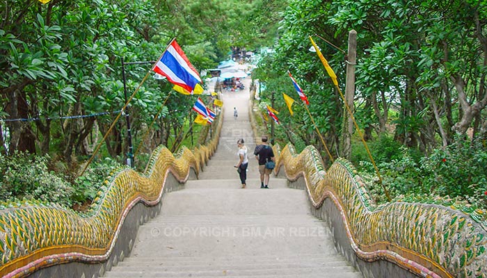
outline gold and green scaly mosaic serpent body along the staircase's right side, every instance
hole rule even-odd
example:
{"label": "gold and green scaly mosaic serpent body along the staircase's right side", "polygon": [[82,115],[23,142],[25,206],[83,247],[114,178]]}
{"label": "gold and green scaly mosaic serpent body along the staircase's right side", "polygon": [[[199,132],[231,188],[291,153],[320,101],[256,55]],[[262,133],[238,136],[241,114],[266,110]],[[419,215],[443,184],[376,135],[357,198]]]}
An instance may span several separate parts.
{"label": "gold and green scaly mosaic serpent body along the staircase's right side", "polygon": [[287,179],[305,179],[315,208],[330,198],[339,209],[360,259],[385,259],[420,277],[487,277],[484,211],[457,206],[392,202],[376,205],[351,163],[339,158],[324,170],[313,146],[273,147]]}

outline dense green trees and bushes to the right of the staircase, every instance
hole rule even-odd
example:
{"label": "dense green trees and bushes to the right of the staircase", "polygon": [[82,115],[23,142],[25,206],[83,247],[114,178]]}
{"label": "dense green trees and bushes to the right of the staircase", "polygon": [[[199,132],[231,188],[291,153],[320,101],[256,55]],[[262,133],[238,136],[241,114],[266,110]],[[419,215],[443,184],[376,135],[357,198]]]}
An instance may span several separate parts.
{"label": "dense green trees and bushes to the right of the staircase", "polygon": [[[313,144],[330,162],[303,106],[294,104],[294,116],[287,113],[281,92],[301,102],[289,70],[310,99],[326,146],[333,156],[344,155],[342,99],[309,51],[308,37],[317,41],[344,91],[343,49],[354,29],[354,115],[392,197],[448,195],[486,208],[486,13],[485,1],[289,1],[275,51],[255,72],[267,88],[261,106],[282,112],[274,136]],[[361,142],[350,158],[377,180]],[[384,201],[383,188],[370,186]]]}

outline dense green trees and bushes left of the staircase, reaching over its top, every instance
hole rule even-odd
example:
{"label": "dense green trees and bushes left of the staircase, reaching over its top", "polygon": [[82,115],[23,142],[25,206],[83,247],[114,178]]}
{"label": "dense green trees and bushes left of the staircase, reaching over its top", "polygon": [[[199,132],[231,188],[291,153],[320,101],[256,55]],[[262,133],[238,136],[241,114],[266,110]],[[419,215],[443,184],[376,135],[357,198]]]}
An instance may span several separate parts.
{"label": "dense green trees and bushes left of the staircase, reaching over its top", "polygon": [[[149,75],[128,108],[134,147],[143,146],[141,153],[150,153],[160,144],[170,149],[180,145],[184,138],[177,135],[194,117],[190,108],[195,97],[171,92],[168,82],[152,79],[150,61],[157,60],[168,42],[177,38],[198,70],[216,67],[232,48],[255,49],[276,38],[275,7],[282,5],[282,1],[267,0],[2,1],[0,154],[5,161],[6,156],[12,156],[13,163],[22,163],[25,170],[44,173],[24,181],[20,179],[23,168],[2,167],[12,178],[3,181],[2,190],[19,198],[40,197],[63,204],[93,197],[97,188],[87,185],[95,184],[101,172],[92,177],[93,168],[81,179],[75,177],[125,103],[122,58],[125,63],[147,62],[125,66],[127,95]],[[243,18],[251,24],[245,24]],[[161,115],[141,142],[166,99]],[[199,129],[193,131],[198,133]],[[113,167],[113,161],[125,161],[129,147],[126,134],[122,117],[95,159],[101,163],[99,170]],[[40,157],[20,160],[17,152]],[[146,156],[139,154],[136,161]],[[49,157],[56,157],[60,165],[54,170],[67,169],[67,176],[42,166],[52,160]],[[111,158],[110,163],[102,166],[106,157]],[[28,169],[28,161],[36,159],[38,166]],[[51,185],[43,180],[49,175],[54,181]],[[58,188],[66,196],[72,195],[72,201],[52,199],[44,191],[26,193],[33,188],[51,188],[51,192]],[[1,199],[9,197],[6,193]]]}

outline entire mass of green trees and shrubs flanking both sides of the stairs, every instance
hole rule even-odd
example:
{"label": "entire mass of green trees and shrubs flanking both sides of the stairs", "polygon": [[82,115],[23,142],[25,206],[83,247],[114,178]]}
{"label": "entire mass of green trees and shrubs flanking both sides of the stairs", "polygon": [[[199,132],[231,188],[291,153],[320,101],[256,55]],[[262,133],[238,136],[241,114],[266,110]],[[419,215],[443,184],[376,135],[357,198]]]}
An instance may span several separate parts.
{"label": "entire mass of green trees and shrubs flanking both sides of the stairs", "polygon": [[[125,103],[121,59],[155,60],[172,38],[199,70],[216,67],[231,51],[272,47],[253,77],[264,85],[258,103],[262,110],[270,104],[281,111],[273,136],[287,138],[283,141],[290,140],[298,151],[315,145],[329,164],[326,146],[333,157],[349,157],[373,181],[365,149],[353,145],[351,156],[344,152],[342,99],[309,51],[311,35],[344,90],[347,57],[342,49],[354,29],[354,115],[392,196],[448,195],[485,206],[485,1],[7,0],[0,3],[0,16],[3,199],[15,193],[70,205],[92,198],[97,188],[88,185],[128,152],[127,127],[119,120],[95,162],[100,171],[88,169],[78,179],[79,165]],[[299,104],[288,70],[308,95],[311,117]],[[150,72],[150,63],[126,65],[125,71],[131,95]],[[294,116],[287,113],[282,92],[296,100]],[[150,153],[159,144],[179,145],[177,135],[192,120],[193,101],[149,77],[129,106],[134,146]],[[141,142],[146,131],[149,139]],[[17,152],[40,156],[21,158]],[[143,162],[147,154],[139,157]],[[28,161],[37,166],[14,167]],[[22,178],[22,171],[35,177]],[[52,184],[63,188],[67,201],[47,199],[56,197],[45,191]],[[383,188],[370,186],[382,201]],[[41,189],[31,193],[35,188]]]}

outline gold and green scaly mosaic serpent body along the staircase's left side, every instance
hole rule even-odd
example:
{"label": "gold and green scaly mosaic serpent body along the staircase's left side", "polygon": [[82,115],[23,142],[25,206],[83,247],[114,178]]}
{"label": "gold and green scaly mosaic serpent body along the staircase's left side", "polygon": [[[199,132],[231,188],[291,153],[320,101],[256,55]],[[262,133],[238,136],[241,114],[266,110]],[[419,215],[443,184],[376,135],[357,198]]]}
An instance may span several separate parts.
{"label": "gold and green scaly mosaic serpent body along the staircase's left side", "polygon": [[188,179],[191,168],[198,175],[216,151],[221,118],[214,122],[216,136],[207,145],[183,147],[175,155],[159,146],[145,172],[115,170],[86,213],[38,201],[1,203],[0,277],[26,277],[70,261],[106,261],[130,209],[138,202],[159,204],[169,172],[180,182]]}

